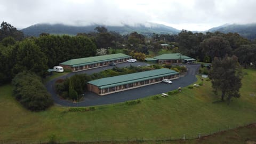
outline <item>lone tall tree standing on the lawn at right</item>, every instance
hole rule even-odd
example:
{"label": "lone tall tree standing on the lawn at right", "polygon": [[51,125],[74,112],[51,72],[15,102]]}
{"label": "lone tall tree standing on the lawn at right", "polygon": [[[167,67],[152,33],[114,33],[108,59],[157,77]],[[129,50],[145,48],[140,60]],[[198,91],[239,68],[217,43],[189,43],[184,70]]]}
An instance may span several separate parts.
{"label": "lone tall tree standing on the lawn at right", "polygon": [[222,101],[226,98],[230,103],[232,97],[240,97],[242,72],[237,57],[214,58],[209,77],[215,94],[221,91]]}

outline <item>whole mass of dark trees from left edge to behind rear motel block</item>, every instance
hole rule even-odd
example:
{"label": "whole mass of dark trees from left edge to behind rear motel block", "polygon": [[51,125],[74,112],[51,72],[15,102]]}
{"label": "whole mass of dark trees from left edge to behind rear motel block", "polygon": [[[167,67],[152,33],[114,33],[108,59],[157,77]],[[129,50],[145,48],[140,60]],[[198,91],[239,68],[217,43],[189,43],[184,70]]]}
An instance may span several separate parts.
{"label": "whole mass of dark trees from left edge to behind rear motel block", "polygon": [[3,37],[0,43],[0,85],[10,82],[23,70],[45,77],[47,69],[69,59],[94,56],[97,50],[93,40],[87,36],[42,34],[38,38],[24,38],[21,41],[16,41],[12,36]]}

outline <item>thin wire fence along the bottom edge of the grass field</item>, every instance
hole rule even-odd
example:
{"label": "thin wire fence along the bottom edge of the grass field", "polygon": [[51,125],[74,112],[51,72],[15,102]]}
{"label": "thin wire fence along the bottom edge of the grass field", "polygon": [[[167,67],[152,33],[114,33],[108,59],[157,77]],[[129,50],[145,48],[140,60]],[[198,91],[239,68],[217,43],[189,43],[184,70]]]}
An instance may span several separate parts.
{"label": "thin wire fence along the bottom edge of the grass field", "polygon": [[90,143],[90,142],[131,142],[131,141],[137,141],[137,142],[143,142],[143,141],[173,141],[173,140],[190,140],[190,139],[200,139],[202,137],[207,137],[212,134],[217,134],[219,132],[225,132],[228,130],[236,129],[237,127],[244,127],[249,126],[251,124],[255,124],[255,122],[252,122],[250,124],[246,123],[243,125],[233,125],[233,126],[224,126],[222,129],[218,129],[217,131],[212,132],[194,132],[194,134],[184,133],[180,136],[176,137],[166,137],[166,136],[157,136],[157,137],[151,137],[151,138],[145,138],[145,137],[118,137],[115,135],[95,135],[95,137],[91,137],[89,139],[84,140],[82,137],[73,138],[72,140],[61,140],[58,138],[58,135],[56,135],[56,139],[50,139],[46,138],[44,140],[40,139],[10,139],[10,140],[0,140],[0,144],[4,143],[15,143],[15,144],[23,144],[23,143],[49,143],[49,141],[55,142],[55,143]]}

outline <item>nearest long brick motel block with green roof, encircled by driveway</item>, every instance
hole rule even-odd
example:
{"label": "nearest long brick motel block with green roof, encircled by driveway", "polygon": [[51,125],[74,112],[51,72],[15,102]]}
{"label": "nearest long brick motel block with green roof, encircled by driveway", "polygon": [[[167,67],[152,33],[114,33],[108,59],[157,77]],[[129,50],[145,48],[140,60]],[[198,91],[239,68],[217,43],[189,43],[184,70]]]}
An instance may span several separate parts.
{"label": "nearest long brick motel block with green roof, encircled by driveway", "polygon": [[143,71],[139,73],[106,77],[87,82],[89,91],[99,95],[135,89],[137,87],[156,84],[162,79],[179,78],[179,73],[167,68]]}

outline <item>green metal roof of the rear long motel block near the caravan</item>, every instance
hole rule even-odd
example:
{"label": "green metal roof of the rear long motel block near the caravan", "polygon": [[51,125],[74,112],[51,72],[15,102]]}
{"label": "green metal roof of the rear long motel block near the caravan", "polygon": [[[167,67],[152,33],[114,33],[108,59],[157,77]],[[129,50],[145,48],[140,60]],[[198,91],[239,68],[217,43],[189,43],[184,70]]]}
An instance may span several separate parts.
{"label": "green metal roof of the rear long motel block near the caravan", "polygon": [[96,57],[71,59],[71,60],[60,63],[60,65],[84,66],[84,65],[90,65],[93,63],[118,60],[118,59],[123,59],[123,58],[131,58],[131,57],[129,55],[126,55],[123,53],[116,53],[116,54],[100,55],[100,56],[96,56]]}

